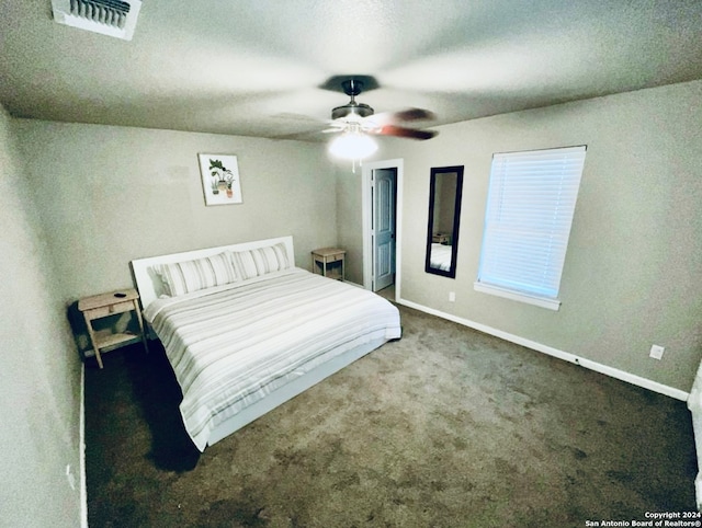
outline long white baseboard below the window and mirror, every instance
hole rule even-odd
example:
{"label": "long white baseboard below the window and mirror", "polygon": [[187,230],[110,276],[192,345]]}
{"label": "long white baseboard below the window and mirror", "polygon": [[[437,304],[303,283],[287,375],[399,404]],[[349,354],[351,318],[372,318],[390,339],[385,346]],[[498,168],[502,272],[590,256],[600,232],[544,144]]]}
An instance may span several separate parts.
{"label": "long white baseboard below the window and mirror", "polygon": [[476,323],[475,321],[471,321],[468,319],[463,319],[463,318],[453,315],[451,313],[445,313],[440,310],[435,310],[433,308],[428,308],[426,306],[418,305],[417,302],[412,302],[407,299],[400,298],[397,300],[397,302],[399,305],[404,305],[406,307],[414,308],[416,310],[430,313],[432,315],[437,315],[442,319],[448,319],[449,321],[453,321],[458,324],[463,324],[464,326],[472,328],[474,330],[477,330],[478,332],[483,332],[485,334],[494,335],[501,340],[509,341],[510,343],[516,343],[518,345],[525,346],[526,348],[531,348],[536,352],[543,352],[544,354],[548,354],[550,356],[557,357],[558,359],[564,359],[569,363],[575,363],[576,365],[580,365],[581,367],[589,368],[590,370],[595,370],[596,372],[604,374],[612,378],[616,378],[619,380],[626,381],[627,383],[643,387],[644,389],[648,389],[654,392],[658,392],[660,394],[675,398],[677,400],[687,401],[690,395],[689,392],[686,392],[683,390],[676,389],[673,387],[669,387],[647,378],[642,378],[641,376],[636,376],[631,372],[620,370],[618,368],[609,367],[607,365],[602,365],[601,363],[592,361],[585,357],[579,357],[579,356],[576,356],[575,354],[563,352],[557,348],[553,348],[551,346],[536,343],[535,341],[520,337],[519,335],[513,335],[508,332],[503,332],[501,330],[497,330],[482,323]]}

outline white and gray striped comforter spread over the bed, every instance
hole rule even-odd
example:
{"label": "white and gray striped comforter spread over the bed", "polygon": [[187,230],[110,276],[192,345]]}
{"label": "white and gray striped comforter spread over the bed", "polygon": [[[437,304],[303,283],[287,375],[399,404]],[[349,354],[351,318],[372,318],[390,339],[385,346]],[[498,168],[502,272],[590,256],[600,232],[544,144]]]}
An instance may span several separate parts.
{"label": "white and gray striped comforter spread over the bed", "polygon": [[399,312],[367,290],[299,268],[151,302],[145,317],[183,391],[202,451],[227,418],[336,356],[400,337]]}

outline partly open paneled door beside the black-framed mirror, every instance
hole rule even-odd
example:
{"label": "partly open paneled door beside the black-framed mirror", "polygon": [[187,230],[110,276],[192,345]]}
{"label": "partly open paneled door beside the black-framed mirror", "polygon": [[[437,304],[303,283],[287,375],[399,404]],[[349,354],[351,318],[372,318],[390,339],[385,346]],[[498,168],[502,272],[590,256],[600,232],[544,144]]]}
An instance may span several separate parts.
{"label": "partly open paneled door beside the black-framed mirror", "polygon": [[397,169],[373,171],[373,291],[395,282],[395,187]]}

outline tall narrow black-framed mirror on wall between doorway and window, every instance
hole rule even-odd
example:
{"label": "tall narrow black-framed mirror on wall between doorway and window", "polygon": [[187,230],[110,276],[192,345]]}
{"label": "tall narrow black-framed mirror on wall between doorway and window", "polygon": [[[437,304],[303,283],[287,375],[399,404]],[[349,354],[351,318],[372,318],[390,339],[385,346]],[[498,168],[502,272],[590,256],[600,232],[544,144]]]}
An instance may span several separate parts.
{"label": "tall narrow black-framed mirror on wall between doorway and window", "polygon": [[431,169],[424,271],[455,278],[463,165]]}

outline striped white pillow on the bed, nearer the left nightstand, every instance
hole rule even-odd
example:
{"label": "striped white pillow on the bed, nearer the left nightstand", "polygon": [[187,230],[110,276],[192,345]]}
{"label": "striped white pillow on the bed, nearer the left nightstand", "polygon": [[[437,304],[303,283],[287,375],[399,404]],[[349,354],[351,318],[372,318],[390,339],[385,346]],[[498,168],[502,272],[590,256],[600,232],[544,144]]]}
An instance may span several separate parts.
{"label": "striped white pillow on the bed, nearer the left nightstand", "polygon": [[200,289],[222,286],[238,280],[231,261],[226,253],[193,261],[161,264],[156,268],[163,288],[170,296],[179,296]]}

